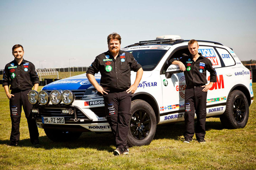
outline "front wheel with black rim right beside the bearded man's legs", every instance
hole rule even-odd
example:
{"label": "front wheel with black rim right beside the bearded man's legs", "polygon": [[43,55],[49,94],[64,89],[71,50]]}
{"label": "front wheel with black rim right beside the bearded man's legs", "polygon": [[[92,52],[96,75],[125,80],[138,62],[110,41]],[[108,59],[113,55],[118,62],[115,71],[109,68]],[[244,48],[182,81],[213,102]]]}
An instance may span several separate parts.
{"label": "front wheel with black rim right beside the bearded man's legs", "polygon": [[149,145],[155,136],[157,121],[153,108],[144,100],[133,100],[127,143],[129,146]]}

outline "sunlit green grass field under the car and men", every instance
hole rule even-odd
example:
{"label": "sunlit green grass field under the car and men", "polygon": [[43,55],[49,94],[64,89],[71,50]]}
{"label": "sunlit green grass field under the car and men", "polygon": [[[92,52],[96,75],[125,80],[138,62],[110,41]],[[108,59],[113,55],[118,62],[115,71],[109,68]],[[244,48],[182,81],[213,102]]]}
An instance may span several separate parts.
{"label": "sunlit green grass field under the car and men", "polygon": [[182,142],[183,122],[157,126],[150,145],[132,147],[129,155],[118,157],[112,154],[111,134],[83,133],[74,142],[57,143],[39,129],[41,146],[34,147],[24,113],[19,146],[8,147],[11,120],[3,88],[0,102],[0,169],[256,169],[256,102],[244,129],[223,129],[219,118],[208,118],[206,143],[187,144]]}

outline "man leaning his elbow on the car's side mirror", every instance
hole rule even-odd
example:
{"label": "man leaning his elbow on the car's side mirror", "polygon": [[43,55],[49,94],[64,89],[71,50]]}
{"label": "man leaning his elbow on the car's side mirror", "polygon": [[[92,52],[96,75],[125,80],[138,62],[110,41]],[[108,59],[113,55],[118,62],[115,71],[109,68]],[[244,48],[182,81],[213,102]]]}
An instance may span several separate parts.
{"label": "man leaning his elbow on the car's side mirror", "polygon": [[[172,64],[178,64],[184,71],[186,80],[185,90],[185,132],[184,143],[192,141],[194,134],[199,143],[204,143],[206,122],[207,91],[216,82],[216,71],[209,59],[198,53],[199,45],[196,40],[188,42],[189,56],[171,59]],[[207,83],[206,70],[210,72],[210,83]],[[196,113],[196,131],[194,130],[194,118]]]}

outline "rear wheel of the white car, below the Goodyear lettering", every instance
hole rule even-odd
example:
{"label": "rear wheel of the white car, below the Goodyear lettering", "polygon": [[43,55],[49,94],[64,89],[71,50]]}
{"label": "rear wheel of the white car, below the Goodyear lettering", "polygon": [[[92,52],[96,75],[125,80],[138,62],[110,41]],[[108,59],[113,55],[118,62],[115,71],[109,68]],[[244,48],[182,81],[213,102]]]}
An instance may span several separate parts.
{"label": "rear wheel of the white car, below the Goodyear lettering", "polygon": [[226,103],[226,111],[221,115],[221,123],[226,129],[243,128],[248,122],[249,104],[240,90],[232,91]]}

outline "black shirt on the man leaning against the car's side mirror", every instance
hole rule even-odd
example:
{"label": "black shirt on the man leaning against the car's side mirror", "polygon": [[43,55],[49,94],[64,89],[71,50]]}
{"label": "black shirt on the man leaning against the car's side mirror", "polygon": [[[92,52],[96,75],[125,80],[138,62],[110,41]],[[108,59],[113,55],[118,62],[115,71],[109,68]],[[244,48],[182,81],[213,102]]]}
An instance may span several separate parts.
{"label": "black shirt on the man leaning against the car's side mirror", "polygon": [[200,56],[196,61],[192,59],[191,54],[189,56],[177,59],[173,58],[170,60],[171,63],[177,60],[185,65],[186,70],[184,71],[184,75],[187,87],[205,85],[207,83],[206,70],[210,72],[210,82],[217,81],[216,71],[212,67],[211,61],[203,57],[201,53],[198,54]]}

